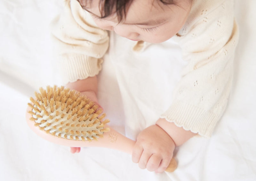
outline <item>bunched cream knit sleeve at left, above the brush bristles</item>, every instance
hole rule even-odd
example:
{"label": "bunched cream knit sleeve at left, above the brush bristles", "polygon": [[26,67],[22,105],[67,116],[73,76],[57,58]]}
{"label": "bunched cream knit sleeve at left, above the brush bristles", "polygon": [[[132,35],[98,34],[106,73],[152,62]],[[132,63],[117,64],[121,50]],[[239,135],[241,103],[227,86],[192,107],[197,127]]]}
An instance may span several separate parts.
{"label": "bunched cream knit sleeve at left, above the brush bristles", "polygon": [[67,0],[51,24],[57,67],[64,83],[97,75],[108,49],[108,32],[97,27],[77,0]]}

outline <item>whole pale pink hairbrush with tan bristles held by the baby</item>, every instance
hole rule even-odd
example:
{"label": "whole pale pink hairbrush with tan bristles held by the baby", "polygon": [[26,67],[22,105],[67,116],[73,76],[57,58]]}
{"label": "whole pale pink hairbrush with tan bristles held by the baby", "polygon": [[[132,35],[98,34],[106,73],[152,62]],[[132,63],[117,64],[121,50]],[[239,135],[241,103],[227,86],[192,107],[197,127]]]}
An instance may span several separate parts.
{"label": "whole pale pink hairbrush with tan bristles held by the baby", "polygon": [[[102,109],[89,98],[63,86],[39,90],[35,99],[30,98],[26,113],[28,126],[38,136],[63,146],[106,147],[132,154],[135,141],[110,128]],[[166,171],[176,168],[172,158]]]}

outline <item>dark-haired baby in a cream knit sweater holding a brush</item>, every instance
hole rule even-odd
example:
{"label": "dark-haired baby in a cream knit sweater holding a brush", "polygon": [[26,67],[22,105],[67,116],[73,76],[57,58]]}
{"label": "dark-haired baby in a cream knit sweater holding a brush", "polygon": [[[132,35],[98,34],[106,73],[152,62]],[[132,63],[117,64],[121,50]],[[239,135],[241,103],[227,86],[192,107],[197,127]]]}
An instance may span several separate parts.
{"label": "dark-haired baby in a cream knit sweater holding a brush", "polygon": [[53,21],[66,86],[96,103],[97,74],[109,43],[106,30],[140,44],[170,38],[180,44],[188,65],[170,108],[137,137],[132,161],[141,169],[163,172],[175,146],[195,135],[209,138],[220,120],[238,38],[233,5],[232,0],[68,0]]}

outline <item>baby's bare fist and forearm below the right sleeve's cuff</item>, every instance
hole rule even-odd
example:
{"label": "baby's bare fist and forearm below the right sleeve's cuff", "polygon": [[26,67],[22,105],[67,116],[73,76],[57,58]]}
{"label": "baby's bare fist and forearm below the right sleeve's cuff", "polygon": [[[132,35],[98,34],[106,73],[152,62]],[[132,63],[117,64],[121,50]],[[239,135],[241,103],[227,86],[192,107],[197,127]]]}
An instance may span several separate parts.
{"label": "baby's bare fist and forearm below the right sleeve's cuff", "polygon": [[155,125],[149,126],[138,135],[132,161],[138,163],[141,169],[164,172],[172,159],[175,146],[182,145],[195,135],[160,118]]}

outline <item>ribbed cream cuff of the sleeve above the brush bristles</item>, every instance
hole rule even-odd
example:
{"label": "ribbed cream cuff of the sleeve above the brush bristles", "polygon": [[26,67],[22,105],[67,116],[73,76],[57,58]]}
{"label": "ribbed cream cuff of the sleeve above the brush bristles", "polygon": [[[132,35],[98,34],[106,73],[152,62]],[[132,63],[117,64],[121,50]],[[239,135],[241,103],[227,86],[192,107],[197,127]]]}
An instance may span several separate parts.
{"label": "ribbed cream cuff of the sleeve above the brush bristles", "polygon": [[61,74],[63,82],[75,82],[98,75],[101,70],[102,59],[85,55],[63,56]]}

